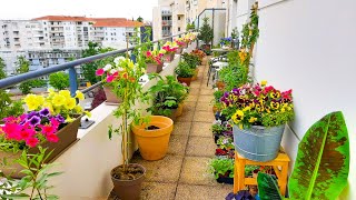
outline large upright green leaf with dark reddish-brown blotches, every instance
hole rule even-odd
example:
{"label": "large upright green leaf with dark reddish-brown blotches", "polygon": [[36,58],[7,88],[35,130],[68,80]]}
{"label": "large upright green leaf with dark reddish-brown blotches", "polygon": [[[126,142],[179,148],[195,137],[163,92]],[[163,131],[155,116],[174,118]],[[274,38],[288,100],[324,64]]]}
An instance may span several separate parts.
{"label": "large upright green leaf with dark reddish-brown blotches", "polygon": [[298,147],[289,179],[291,199],[336,199],[347,184],[349,141],[344,116],[332,112],[314,123]]}

